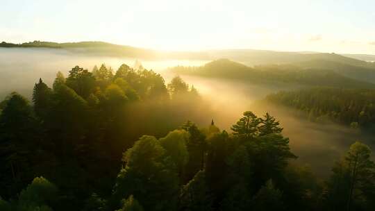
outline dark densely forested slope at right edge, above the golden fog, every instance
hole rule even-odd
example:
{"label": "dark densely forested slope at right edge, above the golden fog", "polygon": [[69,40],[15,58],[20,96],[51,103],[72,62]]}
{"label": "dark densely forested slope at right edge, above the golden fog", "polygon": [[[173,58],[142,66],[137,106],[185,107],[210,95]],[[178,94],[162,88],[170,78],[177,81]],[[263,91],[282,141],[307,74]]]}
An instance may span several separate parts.
{"label": "dark densely forested slope at right edge, above the golden fog", "polygon": [[301,110],[310,120],[331,119],[353,128],[375,123],[375,91],[317,87],[270,94],[267,101]]}

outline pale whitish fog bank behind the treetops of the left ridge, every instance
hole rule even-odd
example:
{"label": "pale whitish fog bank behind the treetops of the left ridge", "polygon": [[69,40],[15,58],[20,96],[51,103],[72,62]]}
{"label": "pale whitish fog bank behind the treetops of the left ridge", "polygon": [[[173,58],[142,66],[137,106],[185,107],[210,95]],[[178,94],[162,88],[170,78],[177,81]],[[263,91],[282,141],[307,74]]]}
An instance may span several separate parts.
{"label": "pale whitish fog bank behind the treetops of the left ridge", "polygon": [[[0,99],[17,91],[30,97],[33,85],[42,78],[48,85],[53,83],[57,71],[67,76],[72,67],[78,65],[92,70],[102,63],[116,70],[120,65],[133,66],[134,58],[115,58],[103,56],[84,56],[63,49],[18,49],[0,48]],[[142,60],[147,69],[161,71],[176,65],[202,65],[204,60]]]}

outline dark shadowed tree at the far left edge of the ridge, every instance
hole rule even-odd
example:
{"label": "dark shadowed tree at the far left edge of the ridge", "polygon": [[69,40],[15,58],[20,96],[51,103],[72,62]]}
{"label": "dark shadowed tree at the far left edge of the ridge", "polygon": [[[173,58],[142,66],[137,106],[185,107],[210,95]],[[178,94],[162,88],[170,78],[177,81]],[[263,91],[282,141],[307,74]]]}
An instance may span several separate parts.
{"label": "dark shadowed tree at the far left edge of the ridge", "polygon": [[31,179],[31,162],[38,147],[38,123],[28,101],[16,92],[8,96],[0,115],[0,184],[15,194]]}

